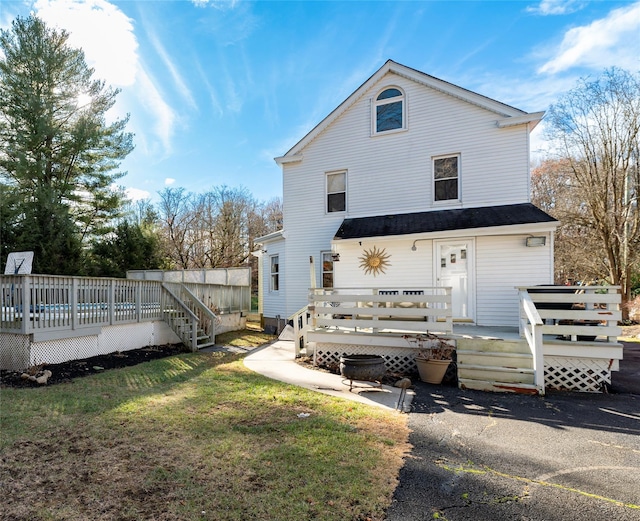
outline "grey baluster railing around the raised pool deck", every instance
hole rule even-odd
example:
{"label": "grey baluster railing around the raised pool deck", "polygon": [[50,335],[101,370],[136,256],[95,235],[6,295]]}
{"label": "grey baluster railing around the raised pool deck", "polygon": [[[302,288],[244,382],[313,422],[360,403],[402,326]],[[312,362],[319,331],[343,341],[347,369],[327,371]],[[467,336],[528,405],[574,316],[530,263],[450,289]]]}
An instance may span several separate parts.
{"label": "grey baluster railing around the raised pool deck", "polygon": [[[177,298],[191,302],[190,311],[211,338],[220,312],[248,312],[250,288],[218,284],[175,284]],[[181,297],[182,295],[182,297]],[[189,298],[186,298],[188,295]],[[64,332],[95,331],[102,326],[166,319],[166,291],[157,280],[0,276],[0,332],[40,337]],[[191,342],[189,342],[191,343]]]}

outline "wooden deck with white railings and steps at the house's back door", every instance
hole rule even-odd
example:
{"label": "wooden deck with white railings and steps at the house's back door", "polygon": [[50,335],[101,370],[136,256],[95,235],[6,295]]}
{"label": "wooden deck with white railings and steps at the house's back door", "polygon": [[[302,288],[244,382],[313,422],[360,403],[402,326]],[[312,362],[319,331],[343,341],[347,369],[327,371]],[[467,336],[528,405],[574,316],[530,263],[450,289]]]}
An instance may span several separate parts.
{"label": "wooden deck with white railings and steps at the house's back door", "polygon": [[611,382],[622,359],[618,287],[518,291],[518,328],[454,322],[447,288],[312,290],[292,320],[298,348],[316,363],[336,363],[345,352],[381,354],[394,372],[411,372],[420,335],[430,333],[455,342],[461,387],[544,394],[597,392]]}

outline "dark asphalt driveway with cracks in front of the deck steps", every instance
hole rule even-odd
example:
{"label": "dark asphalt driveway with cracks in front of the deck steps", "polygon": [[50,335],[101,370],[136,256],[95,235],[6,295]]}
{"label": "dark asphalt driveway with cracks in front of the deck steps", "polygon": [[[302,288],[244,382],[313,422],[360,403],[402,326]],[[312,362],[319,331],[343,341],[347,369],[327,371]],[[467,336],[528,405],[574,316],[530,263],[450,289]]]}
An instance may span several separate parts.
{"label": "dark asphalt driveway with cracks in front of the deck steps", "polygon": [[640,344],[632,351],[610,394],[417,383],[387,521],[639,521]]}

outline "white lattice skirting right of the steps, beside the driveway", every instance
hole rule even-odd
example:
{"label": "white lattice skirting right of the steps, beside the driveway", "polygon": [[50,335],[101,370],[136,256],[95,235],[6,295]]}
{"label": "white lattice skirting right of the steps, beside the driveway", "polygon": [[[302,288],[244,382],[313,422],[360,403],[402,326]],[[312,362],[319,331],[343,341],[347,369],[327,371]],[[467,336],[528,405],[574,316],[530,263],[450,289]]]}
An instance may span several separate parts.
{"label": "white lattice skirting right of the steps, beside the driveway", "polygon": [[544,381],[547,389],[602,392],[604,384],[611,383],[609,361],[545,356]]}

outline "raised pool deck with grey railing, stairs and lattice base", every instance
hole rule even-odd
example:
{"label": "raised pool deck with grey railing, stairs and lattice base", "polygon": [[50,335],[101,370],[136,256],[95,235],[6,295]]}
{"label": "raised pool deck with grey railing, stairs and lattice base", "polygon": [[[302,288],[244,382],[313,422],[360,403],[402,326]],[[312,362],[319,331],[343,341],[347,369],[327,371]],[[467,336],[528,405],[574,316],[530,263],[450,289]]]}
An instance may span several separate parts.
{"label": "raised pool deck with grey railing, stairs and lattice base", "polygon": [[3,275],[0,368],[21,370],[167,339],[196,351],[213,345],[217,333],[243,327],[250,305],[248,285]]}

